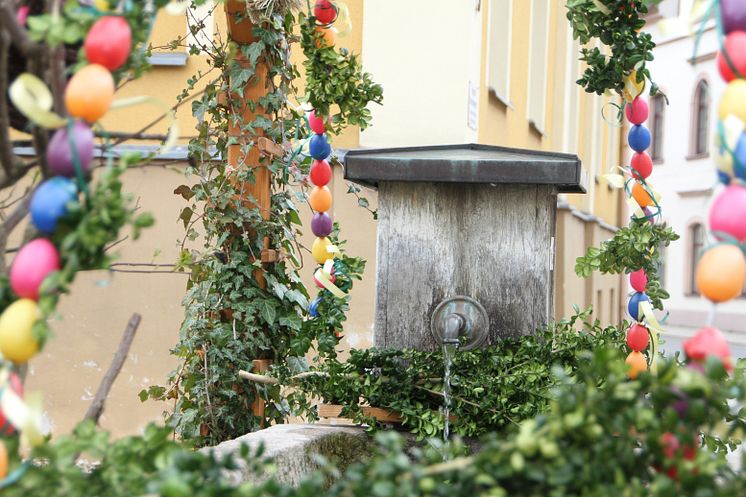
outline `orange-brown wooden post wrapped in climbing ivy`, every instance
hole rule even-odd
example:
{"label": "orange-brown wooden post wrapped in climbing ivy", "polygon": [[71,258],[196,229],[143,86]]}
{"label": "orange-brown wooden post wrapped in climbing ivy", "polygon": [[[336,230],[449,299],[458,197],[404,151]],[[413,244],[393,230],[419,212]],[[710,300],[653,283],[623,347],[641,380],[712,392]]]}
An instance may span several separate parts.
{"label": "orange-brown wooden post wrapped in climbing ivy", "polygon": [[[246,14],[246,2],[240,0],[228,0],[225,3],[225,13],[228,19],[228,36],[232,41],[239,45],[248,45],[257,40],[254,36],[254,24],[249,20]],[[250,61],[243,56],[240,50],[236,53],[236,63],[242,67],[251,67]],[[257,66],[253,68],[255,70],[254,77],[244,86],[243,92],[240,95],[233,95],[233,98],[228,98],[228,105],[236,109],[237,105],[240,105],[236,110],[243,117],[244,123],[250,123],[254,121],[258,116],[265,115],[265,110],[260,105],[256,105],[252,111],[247,102],[258,102],[259,99],[267,94],[267,65],[260,59]],[[230,145],[227,151],[228,167],[233,171],[238,171],[242,167],[250,167],[254,169],[254,183],[245,182],[241,185],[241,199],[247,201],[249,205],[258,207],[262,217],[265,220],[269,219],[271,211],[271,173],[269,169],[260,163],[260,147],[256,144],[251,147],[248,153],[244,153],[241,150],[240,137],[241,137],[240,123],[238,125],[229,123],[228,135],[236,137],[239,143]],[[257,136],[256,140],[261,137]],[[255,199],[255,202],[249,201],[248,199]],[[269,251],[269,238],[264,239],[263,253]],[[254,272],[254,277],[259,282],[261,288],[267,287],[267,282],[264,278],[264,271],[257,269]]]}

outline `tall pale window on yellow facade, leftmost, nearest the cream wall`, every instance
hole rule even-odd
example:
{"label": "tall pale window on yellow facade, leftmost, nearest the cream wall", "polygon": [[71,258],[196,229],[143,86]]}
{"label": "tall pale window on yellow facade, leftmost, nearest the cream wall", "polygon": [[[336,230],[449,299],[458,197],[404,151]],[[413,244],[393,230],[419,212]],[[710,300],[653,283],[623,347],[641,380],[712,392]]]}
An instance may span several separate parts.
{"label": "tall pale window on yellow facade, leftmost, nearest the cream wall", "polygon": [[513,0],[490,0],[487,85],[506,106],[510,105],[510,49]]}

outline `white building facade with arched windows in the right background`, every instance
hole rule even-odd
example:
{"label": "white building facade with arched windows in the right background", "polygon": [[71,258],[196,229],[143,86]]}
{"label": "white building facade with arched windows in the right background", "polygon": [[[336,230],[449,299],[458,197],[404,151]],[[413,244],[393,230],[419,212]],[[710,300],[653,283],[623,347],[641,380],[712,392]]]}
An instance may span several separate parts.
{"label": "white building facade with arched windows in the right background", "polygon": [[[681,236],[666,252],[664,284],[671,299],[668,328],[687,335],[709,322],[712,304],[700,298],[695,281],[697,262],[711,238],[707,212],[718,184],[713,160],[717,132],[718,95],[725,90],[716,64],[720,48],[714,21],[702,34],[695,53],[695,34],[671,32],[661,19],[686,15],[691,0],[665,0],[651,19],[657,43],[650,70],[663,97],[651,101],[652,157],[656,164],[650,180],[663,197],[663,216]],[[746,300],[742,297],[718,306],[714,325],[724,331],[746,332]]]}

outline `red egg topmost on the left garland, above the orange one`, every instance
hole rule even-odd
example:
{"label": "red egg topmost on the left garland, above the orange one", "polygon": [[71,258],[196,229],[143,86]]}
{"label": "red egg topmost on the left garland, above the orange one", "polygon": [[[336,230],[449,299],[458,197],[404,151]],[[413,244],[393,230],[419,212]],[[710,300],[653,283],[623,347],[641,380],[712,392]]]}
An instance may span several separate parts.
{"label": "red egg topmost on the left garland, above the orange one", "polygon": [[91,64],[100,64],[110,71],[127,62],[132,49],[132,30],[124,17],[104,16],[93,23],[83,44]]}

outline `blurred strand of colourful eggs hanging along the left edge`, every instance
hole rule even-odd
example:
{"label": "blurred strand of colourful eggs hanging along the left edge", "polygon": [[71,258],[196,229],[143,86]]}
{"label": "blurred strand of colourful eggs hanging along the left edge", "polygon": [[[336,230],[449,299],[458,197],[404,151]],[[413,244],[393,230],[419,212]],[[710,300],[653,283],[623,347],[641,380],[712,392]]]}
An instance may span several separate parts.
{"label": "blurred strand of colourful eggs hanging along the left edge", "polygon": [[[79,190],[88,192],[86,177],[94,156],[91,124],[110,109],[115,91],[110,71],[125,64],[131,45],[131,28],[124,17],[104,16],[94,23],[84,43],[89,64],[73,75],[65,89],[64,103],[69,115],[66,124],[45,109],[43,103],[34,101],[49,95],[43,83],[39,88],[39,82],[28,77],[21,83],[27,85],[30,81],[43,93],[27,95],[30,102],[16,107],[39,126],[53,128],[62,124],[53,133],[46,150],[49,170],[56,176],[34,190],[29,205],[31,222],[43,235],[52,235],[59,229],[60,220],[78,201]],[[11,94],[11,99],[19,93]],[[49,239],[39,237],[26,243],[9,271],[10,287],[19,298],[0,314],[0,359],[6,362],[0,369],[0,435],[21,431],[32,445],[42,440],[40,427],[34,421],[38,413],[23,401],[23,385],[14,368],[26,364],[43,345],[34,333],[36,323],[44,319],[38,301],[43,296],[45,281],[60,269],[60,253]],[[25,467],[22,465],[8,474],[8,453],[0,440],[0,488],[17,481]]]}

